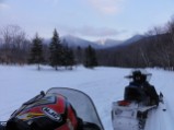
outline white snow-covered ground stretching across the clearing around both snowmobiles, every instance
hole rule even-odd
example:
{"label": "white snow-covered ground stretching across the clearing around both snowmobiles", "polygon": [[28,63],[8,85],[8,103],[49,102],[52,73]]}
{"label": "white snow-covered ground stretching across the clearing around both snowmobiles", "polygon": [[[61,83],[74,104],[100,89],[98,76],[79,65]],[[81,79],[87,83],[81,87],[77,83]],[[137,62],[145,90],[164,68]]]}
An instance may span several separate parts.
{"label": "white snow-covered ground stretching across the clearing around both snowmobiles", "polygon": [[[98,67],[93,70],[78,67],[74,70],[55,71],[50,67],[35,66],[12,67],[0,66],[0,120],[7,120],[22,103],[40,91],[50,87],[71,87],[90,95],[96,106],[105,130],[113,130],[111,121],[112,103],[123,99],[124,87],[128,80],[124,79],[131,69]],[[147,130],[174,130],[174,72],[147,69],[153,75],[150,83],[158,92],[163,92],[166,111],[152,111],[147,121]]]}

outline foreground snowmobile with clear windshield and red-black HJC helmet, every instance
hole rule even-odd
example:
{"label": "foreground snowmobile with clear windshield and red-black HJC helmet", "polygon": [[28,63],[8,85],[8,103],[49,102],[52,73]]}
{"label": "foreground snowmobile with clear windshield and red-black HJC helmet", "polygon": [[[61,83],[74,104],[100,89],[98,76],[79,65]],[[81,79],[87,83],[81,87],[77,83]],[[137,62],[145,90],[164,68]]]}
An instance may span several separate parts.
{"label": "foreground snowmobile with clear windshield and red-black HJC helmet", "polygon": [[104,130],[92,99],[81,91],[53,87],[24,103],[0,130]]}

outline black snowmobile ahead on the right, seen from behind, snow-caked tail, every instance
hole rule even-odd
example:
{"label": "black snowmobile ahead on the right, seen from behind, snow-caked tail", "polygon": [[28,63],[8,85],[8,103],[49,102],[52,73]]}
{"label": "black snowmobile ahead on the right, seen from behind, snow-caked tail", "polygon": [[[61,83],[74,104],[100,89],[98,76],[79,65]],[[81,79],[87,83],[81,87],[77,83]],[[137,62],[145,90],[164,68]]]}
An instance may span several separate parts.
{"label": "black snowmobile ahead on the right, seen from behind, snow-caked tail", "polygon": [[135,70],[126,76],[132,81],[125,87],[124,99],[112,106],[114,130],[143,130],[149,111],[164,104],[162,93],[158,95],[154,86],[147,82],[148,75],[151,74]]}

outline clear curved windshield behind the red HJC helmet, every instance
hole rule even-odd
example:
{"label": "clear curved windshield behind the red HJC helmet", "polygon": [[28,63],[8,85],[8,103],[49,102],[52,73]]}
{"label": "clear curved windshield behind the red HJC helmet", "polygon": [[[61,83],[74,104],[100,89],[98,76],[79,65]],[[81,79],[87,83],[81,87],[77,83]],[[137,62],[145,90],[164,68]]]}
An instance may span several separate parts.
{"label": "clear curved windshield behind the red HJC helmet", "polygon": [[73,88],[54,87],[47,91],[46,95],[49,94],[63,95],[71,103],[79,118],[81,118],[84,122],[95,123],[101,128],[101,130],[104,130],[96,108],[92,99],[85,93]]}

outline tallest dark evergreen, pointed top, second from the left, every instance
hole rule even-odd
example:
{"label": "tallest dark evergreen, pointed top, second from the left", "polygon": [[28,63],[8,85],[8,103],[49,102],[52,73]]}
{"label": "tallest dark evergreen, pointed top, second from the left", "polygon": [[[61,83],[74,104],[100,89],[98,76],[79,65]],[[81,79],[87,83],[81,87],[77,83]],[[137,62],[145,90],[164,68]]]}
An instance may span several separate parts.
{"label": "tallest dark evergreen, pointed top, second from the left", "polygon": [[54,31],[54,36],[49,45],[49,63],[57,70],[57,67],[62,64],[62,46],[60,45],[60,38],[56,28]]}

